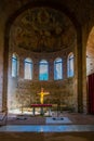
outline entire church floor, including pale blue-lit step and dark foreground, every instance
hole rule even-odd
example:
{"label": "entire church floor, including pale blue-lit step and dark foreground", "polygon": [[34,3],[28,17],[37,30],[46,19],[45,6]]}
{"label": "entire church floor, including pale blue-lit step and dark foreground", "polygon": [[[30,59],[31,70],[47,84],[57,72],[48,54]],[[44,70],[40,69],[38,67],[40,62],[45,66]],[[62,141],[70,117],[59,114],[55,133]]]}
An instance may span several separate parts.
{"label": "entire church floor, including pale blue-lit step and dark foreground", "polygon": [[[94,115],[52,112],[52,117],[54,124],[46,123],[48,116],[9,114],[0,126],[0,141],[94,141]],[[70,123],[58,123],[64,117]]]}

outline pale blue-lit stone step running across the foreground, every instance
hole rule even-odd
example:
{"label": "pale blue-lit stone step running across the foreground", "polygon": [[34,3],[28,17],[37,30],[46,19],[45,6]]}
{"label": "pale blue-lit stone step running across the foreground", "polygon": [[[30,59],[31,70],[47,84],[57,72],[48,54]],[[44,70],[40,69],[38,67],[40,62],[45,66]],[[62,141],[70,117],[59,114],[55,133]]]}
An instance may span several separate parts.
{"label": "pale blue-lit stone step running across the foreground", "polygon": [[94,125],[5,125],[0,132],[80,132],[94,131]]}

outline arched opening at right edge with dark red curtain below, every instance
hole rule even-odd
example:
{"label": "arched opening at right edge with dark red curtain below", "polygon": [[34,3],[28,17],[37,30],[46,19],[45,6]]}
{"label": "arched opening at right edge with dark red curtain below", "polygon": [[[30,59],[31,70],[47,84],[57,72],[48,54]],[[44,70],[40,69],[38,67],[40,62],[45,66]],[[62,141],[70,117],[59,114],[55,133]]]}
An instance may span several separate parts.
{"label": "arched opening at right edge with dark red curtain below", "polygon": [[88,113],[94,114],[94,26],[86,42],[86,106]]}

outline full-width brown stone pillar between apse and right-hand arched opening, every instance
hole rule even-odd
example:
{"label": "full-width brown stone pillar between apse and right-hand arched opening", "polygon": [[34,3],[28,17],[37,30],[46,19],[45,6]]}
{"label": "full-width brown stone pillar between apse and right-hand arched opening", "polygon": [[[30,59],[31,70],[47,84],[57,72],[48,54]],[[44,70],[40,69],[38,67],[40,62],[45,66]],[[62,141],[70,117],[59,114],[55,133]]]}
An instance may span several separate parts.
{"label": "full-width brown stone pillar between apse and right-hand arched opening", "polygon": [[[83,105],[85,104],[86,94],[86,69],[85,69],[85,48],[83,46],[82,30],[77,33],[77,50],[76,50],[76,87],[77,87],[77,101],[78,112],[84,112]],[[84,104],[83,104],[84,103]],[[85,105],[84,105],[85,106]]]}

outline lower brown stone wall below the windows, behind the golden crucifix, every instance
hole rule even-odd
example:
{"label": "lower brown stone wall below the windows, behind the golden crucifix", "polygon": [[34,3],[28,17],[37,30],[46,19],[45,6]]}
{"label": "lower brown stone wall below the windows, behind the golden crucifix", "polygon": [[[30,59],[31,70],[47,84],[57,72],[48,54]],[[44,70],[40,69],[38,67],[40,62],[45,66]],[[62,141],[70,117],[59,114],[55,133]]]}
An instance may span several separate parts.
{"label": "lower brown stone wall below the windows, behind the golden crucifix", "polygon": [[[15,84],[15,82],[14,82]],[[38,93],[41,87],[50,92],[44,97],[44,103],[66,105],[66,108],[72,110],[75,107],[73,79],[66,79],[61,81],[17,81],[14,91],[10,93],[9,107],[19,108],[29,106],[32,103],[40,103]],[[13,86],[12,86],[13,89]]]}

